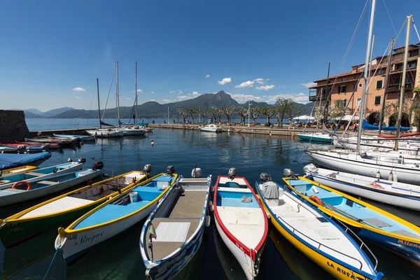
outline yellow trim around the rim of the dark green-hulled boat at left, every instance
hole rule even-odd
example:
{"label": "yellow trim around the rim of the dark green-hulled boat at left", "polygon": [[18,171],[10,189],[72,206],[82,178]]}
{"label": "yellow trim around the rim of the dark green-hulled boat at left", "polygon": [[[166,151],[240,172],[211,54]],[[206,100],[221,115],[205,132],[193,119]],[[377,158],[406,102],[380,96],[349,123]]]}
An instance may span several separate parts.
{"label": "yellow trim around the rim of the dark green-hulled boat at left", "polygon": [[[54,198],[52,198],[52,199],[50,199],[50,200],[47,200],[47,201],[45,201],[45,202],[42,202],[42,203],[40,203],[40,204],[36,204],[36,205],[35,205],[35,206],[33,206],[33,207],[29,207],[28,209],[25,209],[25,210],[23,210],[23,211],[20,211],[20,212],[19,212],[19,213],[17,213],[17,214],[14,214],[14,215],[12,215],[12,216],[8,217],[8,218],[7,218],[7,223],[12,223],[12,222],[15,222],[15,221],[19,221],[19,222],[21,222],[21,221],[32,221],[32,220],[38,220],[38,219],[45,218],[45,217],[54,217],[54,216],[57,216],[57,215],[62,215],[62,214],[65,214],[65,213],[68,213],[68,212],[71,212],[71,211],[76,211],[76,210],[78,210],[78,209],[83,209],[83,208],[85,208],[85,207],[90,207],[90,205],[92,205],[92,204],[94,204],[94,203],[97,203],[97,202],[101,202],[101,201],[108,200],[108,199],[109,199],[109,197],[113,197],[113,196],[115,196],[115,195],[116,195],[116,193],[118,194],[118,192],[111,193],[111,195],[107,195],[106,197],[102,197],[100,200],[92,200],[92,203],[90,203],[90,204],[85,204],[85,205],[83,205],[82,207],[76,207],[76,208],[67,209],[66,211],[59,211],[59,212],[55,212],[54,214],[45,214],[45,215],[41,215],[41,216],[34,216],[34,217],[27,217],[27,218],[20,218],[20,217],[22,217],[23,215],[25,215],[25,214],[29,213],[30,211],[33,211],[33,210],[35,210],[35,209],[38,209],[39,207],[43,207],[44,205],[49,204],[49,203],[51,203],[51,202],[54,202],[55,200],[59,200],[59,199],[61,199],[61,198],[63,198],[63,197],[69,196],[69,195],[73,195],[73,193],[77,193],[77,192],[79,192],[80,190],[85,190],[85,189],[87,189],[87,188],[92,188],[92,187],[94,187],[94,186],[98,186],[98,185],[100,185],[100,184],[102,184],[102,183],[106,183],[106,182],[108,182],[108,181],[113,181],[113,180],[118,179],[118,178],[121,178],[121,177],[123,177],[123,176],[127,176],[127,175],[129,175],[129,174],[132,174],[133,172],[138,172],[138,173],[141,173],[141,172],[139,172],[139,171],[127,172],[127,173],[125,173],[125,174],[121,174],[121,175],[118,175],[118,176],[114,176],[114,177],[111,177],[111,178],[109,178],[109,179],[106,179],[106,180],[103,180],[103,181],[99,181],[99,182],[97,182],[97,183],[94,183],[94,184],[92,184],[92,185],[85,186],[85,187],[83,187],[83,188],[78,188],[77,190],[72,190],[72,191],[71,191],[71,192],[69,192],[69,193],[65,193],[64,195],[59,195],[58,197],[54,197]],[[140,183],[141,181],[143,181],[146,177],[147,177],[147,176],[146,176],[146,175],[144,175],[143,177],[139,178],[136,182],[131,183],[131,184],[130,184],[130,185],[128,185],[127,187],[123,188],[123,189],[121,190],[121,192],[125,192],[125,190],[128,190],[128,189],[130,189],[130,188],[134,188],[134,186],[137,186],[137,184],[138,184],[138,183]]]}

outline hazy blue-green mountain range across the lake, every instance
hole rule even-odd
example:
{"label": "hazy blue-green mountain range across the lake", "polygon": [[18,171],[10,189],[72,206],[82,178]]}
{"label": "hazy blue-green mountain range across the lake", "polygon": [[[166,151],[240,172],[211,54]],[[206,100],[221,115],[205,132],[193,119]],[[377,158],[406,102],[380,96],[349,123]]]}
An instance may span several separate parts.
{"label": "hazy blue-green mountain range across the lake", "polygon": [[[308,104],[300,104],[293,102],[296,108],[303,106],[300,115],[309,114],[311,112],[314,102]],[[139,118],[167,118],[168,108],[169,114],[172,118],[178,116],[176,109],[218,109],[228,106],[245,106],[248,107],[248,102],[239,104],[235,99],[232,99],[230,94],[225,93],[223,90],[217,93],[202,94],[193,99],[188,99],[180,102],[172,102],[167,104],[160,104],[158,102],[146,102],[137,107]],[[251,101],[251,107],[262,108],[269,106],[266,102]],[[120,118],[130,118],[132,116],[132,107],[120,107]],[[115,118],[116,108],[106,109],[105,118]],[[103,111],[101,111],[103,113]],[[36,109],[25,110],[26,118],[98,118],[97,110],[79,110],[69,107],[54,109],[47,112],[41,112]]]}

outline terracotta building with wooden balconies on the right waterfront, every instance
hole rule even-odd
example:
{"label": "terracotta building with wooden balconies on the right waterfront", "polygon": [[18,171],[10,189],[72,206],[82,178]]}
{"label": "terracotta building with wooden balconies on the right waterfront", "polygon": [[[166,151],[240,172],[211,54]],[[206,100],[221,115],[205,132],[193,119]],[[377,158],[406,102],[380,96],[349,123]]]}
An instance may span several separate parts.
{"label": "terracotta building with wooden balconies on the right waterfront", "polygon": [[[407,62],[407,75],[405,83],[405,98],[404,98],[404,112],[402,114],[402,126],[408,126],[413,122],[419,122],[412,113],[415,108],[414,105],[420,104],[413,102],[420,100],[420,96],[416,97],[413,93],[414,87],[420,87],[420,43],[416,45],[409,45],[408,62]],[[400,85],[402,78],[402,64],[404,57],[405,47],[395,48],[392,54],[391,71],[388,82],[388,94],[384,99],[384,83],[386,74],[387,57],[375,57],[372,59],[372,66],[370,70],[370,85],[367,90],[367,111],[366,120],[368,123],[374,124],[379,122],[379,113],[381,111],[382,102],[385,102],[384,123],[386,125],[395,125],[398,107],[398,98],[400,95]],[[321,105],[328,102],[330,110],[332,108],[341,108],[343,111],[344,106],[349,102],[351,94],[354,91],[354,96],[347,108],[346,113],[353,113],[357,108],[358,102],[362,97],[363,89],[363,69],[365,64],[355,65],[351,67],[351,71],[339,73],[335,76],[330,76],[328,79],[328,90],[331,90],[329,100],[327,91],[327,78],[315,80],[316,86],[309,88],[309,101],[321,102]],[[359,80],[360,78],[360,80]],[[321,106],[321,107],[322,107]],[[360,111],[360,109],[358,109]]]}

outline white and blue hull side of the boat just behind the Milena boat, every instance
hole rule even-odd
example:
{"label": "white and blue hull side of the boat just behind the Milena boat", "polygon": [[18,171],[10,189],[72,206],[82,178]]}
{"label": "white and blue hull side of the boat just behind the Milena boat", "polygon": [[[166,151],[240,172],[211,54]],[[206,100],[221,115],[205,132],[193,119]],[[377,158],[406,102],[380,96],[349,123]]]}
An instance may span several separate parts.
{"label": "white and blue hull side of the boat just behind the Milena boat", "polygon": [[336,190],[341,190],[345,193],[351,193],[352,195],[366,197],[370,200],[376,200],[378,202],[384,202],[398,207],[420,211],[420,198],[407,197],[402,194],[392,195],[391,193],[384,193],[381,190],[363,188],[363,186],[335,181],[334,179],[329,179],[325,176],[318,176],[316,174],[311,174],[311,177],[316,183],[320,183],[321,185],[325,185]]}

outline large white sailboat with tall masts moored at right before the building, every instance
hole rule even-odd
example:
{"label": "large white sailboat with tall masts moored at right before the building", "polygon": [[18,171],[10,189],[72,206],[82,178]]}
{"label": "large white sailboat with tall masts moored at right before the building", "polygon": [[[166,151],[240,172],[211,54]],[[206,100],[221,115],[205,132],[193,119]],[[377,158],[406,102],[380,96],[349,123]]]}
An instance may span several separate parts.
{"label": "large white sailboat with tall masts moored at right before the building", "polygon": [[[374,152],[367,153],[360,151],[361,136],[363,130],[363,116],[364,116],[364,104],[365,104],[365,94],[366,94],[366,85],[367,85],[367,65],[369,64],[369,50],[372,42],[372,28],[374,20],[374,7],[376,1],[372,1],[372,15],[370,18],[370,30],[369,37],[367,41],[367,52],[365,59],[365,70],[364,70],[364,83],[363,83],[363,95],[360,102],[360,120],[358,131],[358,141],[356,146],[356,151],[342,151],[342,150],[332,150],[332,151],[310,151],[307,150],[305,153],[309,155],[316,163],[323,167],[330,169],[339,170],[342,172],[351,172],[357,173],[363,176],[380,176],[381,179],[392,178],[393,181],[402,181],[405,183],[412,183],[419,185],[420,184],[420,160],[410,159],[405,157],[404,154],[399,154],[398,157],[395,156],[395,153],[384,152]],[[405,55],[404,55],[404,64],[402,71],[402,84],[400,92],[400,110],[398,113],[397,121],[397,134],[396,139],[400,136],[400,123],[402,118],[402,102],[405,92],[405,75],[407,72],[407,57],[408,57],[408,43],[409,43],[409,28],[411,24],[412,16],[408,15],[407,17],[407,36],[405,41]],[[395,150],[398,150],[398,140],[395,141]]]}

